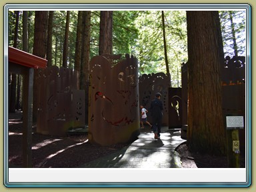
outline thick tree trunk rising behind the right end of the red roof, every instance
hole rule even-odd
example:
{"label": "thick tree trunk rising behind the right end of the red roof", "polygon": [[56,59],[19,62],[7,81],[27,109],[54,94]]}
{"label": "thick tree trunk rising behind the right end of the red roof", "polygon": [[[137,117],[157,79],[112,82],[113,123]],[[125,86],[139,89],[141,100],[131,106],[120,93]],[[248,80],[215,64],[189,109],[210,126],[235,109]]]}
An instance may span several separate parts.
{"label": "thick tree trunk rising behind the right end of the red roof", "polygon": [[[47,21],[48,11],[35,11],[35,31],[33,55],[44,58],[47,50]],[[37,73],[34,73],[33,82],[33,122],[37,120]]]}

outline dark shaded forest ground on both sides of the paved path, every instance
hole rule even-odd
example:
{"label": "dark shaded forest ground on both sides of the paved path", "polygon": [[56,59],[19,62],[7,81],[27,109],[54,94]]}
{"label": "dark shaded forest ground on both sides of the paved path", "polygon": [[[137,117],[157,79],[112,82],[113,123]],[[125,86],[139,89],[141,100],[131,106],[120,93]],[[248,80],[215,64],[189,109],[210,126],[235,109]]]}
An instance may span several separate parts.
{"label": "dark shaded forest ground on both sides of the paved path", "polygon": [[[22,167],[22,120],[21,113],[9,113],[8,157],[9,167]],[[144,132],[151,132],[150,128]],[[68,134],[63,137],[41,135],[33,126],[32,167],[33,168],[75,168],[105,155],[114,153],[131,143],[102,147],[93,145],[87,133]],[[177,151],[183,168],[226,168],[227,157],[191,153],[186,143],[179,145]],[[245,167],[245,157],[241,155],[241,167]]]}

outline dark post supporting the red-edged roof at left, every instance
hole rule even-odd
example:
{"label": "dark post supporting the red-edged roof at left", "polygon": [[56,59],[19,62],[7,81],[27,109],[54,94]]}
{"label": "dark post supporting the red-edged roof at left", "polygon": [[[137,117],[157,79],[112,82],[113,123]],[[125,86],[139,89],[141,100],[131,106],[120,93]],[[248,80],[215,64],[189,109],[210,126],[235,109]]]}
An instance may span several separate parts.
{"label": "dark post supporting the red-edged roof at left", "polygon": [[8,48],[9,73],[23,75],[23,167],[32,167],[33,77],[34,69],[45,68],[47,60],[13,47]]}

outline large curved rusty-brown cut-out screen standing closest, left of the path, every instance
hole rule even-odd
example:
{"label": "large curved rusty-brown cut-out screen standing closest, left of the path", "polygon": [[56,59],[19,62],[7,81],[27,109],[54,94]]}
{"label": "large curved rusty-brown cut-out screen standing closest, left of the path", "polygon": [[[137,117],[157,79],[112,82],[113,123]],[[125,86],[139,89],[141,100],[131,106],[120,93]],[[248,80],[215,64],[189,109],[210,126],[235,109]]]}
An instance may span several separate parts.
{"label": "large curved rusty-brown cut-out screen standing closest, left of the path", "polygon": [[92,143],[126,143],[139,135],[137,59],[125,57],[96,56],[89,63],[88,138]]}

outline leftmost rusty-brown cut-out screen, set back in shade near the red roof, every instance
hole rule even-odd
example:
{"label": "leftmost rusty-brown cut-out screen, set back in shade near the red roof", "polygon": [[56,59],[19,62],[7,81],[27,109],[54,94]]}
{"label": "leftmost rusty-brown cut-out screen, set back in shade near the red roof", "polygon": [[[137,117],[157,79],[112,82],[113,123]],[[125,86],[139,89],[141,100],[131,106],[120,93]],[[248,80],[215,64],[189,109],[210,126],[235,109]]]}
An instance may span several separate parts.
{"label": "leftmost rusty-brown cut-out screen, set back in shade near the red roof", "polygon": [[53,66],[37,71],[37,132],[65,135],[85,126],[85,91],[77,90],[78,73]]}

